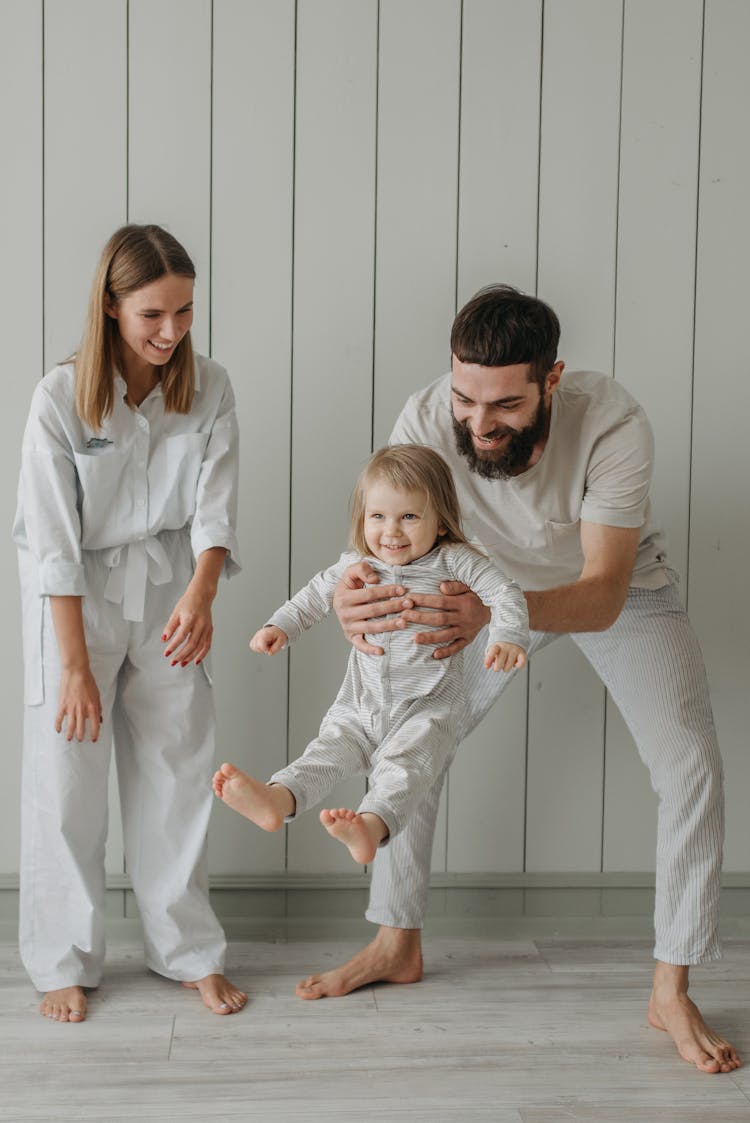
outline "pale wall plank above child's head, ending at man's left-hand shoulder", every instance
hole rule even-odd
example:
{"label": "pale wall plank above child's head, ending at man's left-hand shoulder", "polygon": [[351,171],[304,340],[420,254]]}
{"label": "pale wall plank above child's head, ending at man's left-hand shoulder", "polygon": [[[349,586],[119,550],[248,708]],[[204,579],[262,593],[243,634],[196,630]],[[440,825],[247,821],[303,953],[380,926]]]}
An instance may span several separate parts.
{"label": "pale wall plank above child's head, ending at man's left-hand shoulder", "polygon": [[[429,31],[427,30],[429,29]],[[456,310],[458,0],[381,0],[373,441],[449,365]],[[433,862],[446,860],[447,791]]]}

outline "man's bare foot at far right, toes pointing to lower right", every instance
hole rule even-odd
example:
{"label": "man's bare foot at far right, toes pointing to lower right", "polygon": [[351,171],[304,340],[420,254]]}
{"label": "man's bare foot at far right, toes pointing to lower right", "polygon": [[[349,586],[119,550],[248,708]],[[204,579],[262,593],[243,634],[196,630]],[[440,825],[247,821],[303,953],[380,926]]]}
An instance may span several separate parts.
{"label": "man's bare foot at far right, toes pointing to lower right", "polygon": [[649,1002],[649,1022],[665,1030],[683,1060],[702,1072],[731,1072],[742,1061],[734,1047],[706,1025],[701,1011],[687,996],[688,968],[657,960]]}

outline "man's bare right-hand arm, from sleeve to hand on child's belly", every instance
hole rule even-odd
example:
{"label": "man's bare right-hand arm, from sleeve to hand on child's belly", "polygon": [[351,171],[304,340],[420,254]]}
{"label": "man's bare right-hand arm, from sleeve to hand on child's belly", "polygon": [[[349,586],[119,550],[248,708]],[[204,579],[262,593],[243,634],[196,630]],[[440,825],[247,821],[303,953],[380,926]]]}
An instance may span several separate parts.
{"label": "man's bare right-hand arm, from sleeve to hand on child's belly", "polygon": [[[529,627],[550,632],[610,628],[625,603],[639,540],[638,527],[606,527],[582,520],[580,576],[569,585],[525,592]],[[460,651],[490,620],[490,610],[458,582],[445,582],[440,595],[414,594],[411,599],[415,608],[402,615],[413,623],[432,626],[430,631],[419,632],[414,642],[445,645],[436,648],[436,659]],[[420,611],[428,606],[430,611]]]}

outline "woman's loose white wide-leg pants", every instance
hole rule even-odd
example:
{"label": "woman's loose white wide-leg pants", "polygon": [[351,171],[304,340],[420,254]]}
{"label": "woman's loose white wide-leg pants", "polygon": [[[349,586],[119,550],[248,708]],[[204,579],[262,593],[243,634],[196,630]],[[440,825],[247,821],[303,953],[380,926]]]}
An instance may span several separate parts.
{"label": "woman's loose white wide-leg pants", "polygon": [[[42,615],[42,682],[27,684],[21,811],[21,958],[39,990],[97,986],[104,959],[104,843],[112,742],[127,871],[143,920],[147,966],[192,980],[223,969],[226,941],[208,895],[213,699],[202,667],[172,667],[161,640],[191,574],[185,532],[159,536],[173,579],[148,584],[143,623],[104,600],[109,570],[86,554],[83,599],[103,724],[99,741],[55,732],[60,656],[49,605]],[[21,551],[25,612],[34,564]],[[38,594],[36,594],[38,597]],[[25,636],[30,643],[33,638]],[[27,676],[35,666],[26,652]],[[34,673],[34,672],[31,672]]]}

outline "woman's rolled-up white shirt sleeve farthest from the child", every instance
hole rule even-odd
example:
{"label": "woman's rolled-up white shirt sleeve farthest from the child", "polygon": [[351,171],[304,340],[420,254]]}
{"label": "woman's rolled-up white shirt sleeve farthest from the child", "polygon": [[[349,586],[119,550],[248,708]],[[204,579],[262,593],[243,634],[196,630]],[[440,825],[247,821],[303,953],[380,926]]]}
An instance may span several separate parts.
{"label": "woman's rolled-up white shirt sleeve farthest from the child", "polygon": [[84,596],[75,460],[57,408],[37,386],[24,432],[20,497],[25,545],[44,596]]}

